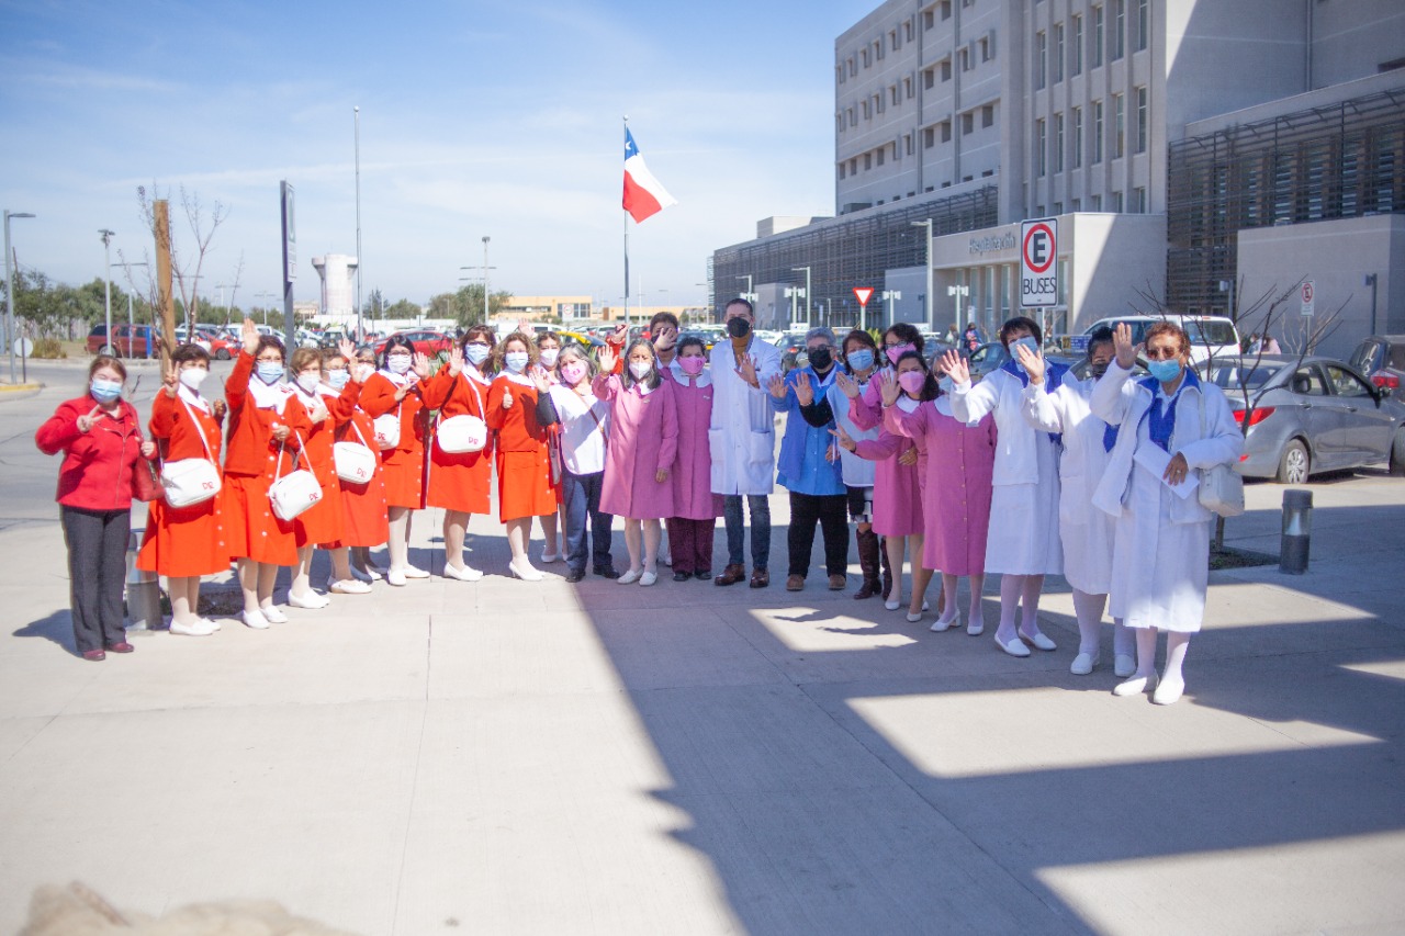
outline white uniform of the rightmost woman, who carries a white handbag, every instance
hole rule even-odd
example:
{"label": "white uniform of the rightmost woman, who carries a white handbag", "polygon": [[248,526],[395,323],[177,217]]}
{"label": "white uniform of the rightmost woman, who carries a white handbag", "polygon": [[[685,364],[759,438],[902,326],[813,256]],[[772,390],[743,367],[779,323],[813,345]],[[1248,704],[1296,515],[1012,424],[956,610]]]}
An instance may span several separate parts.
{"label": "white uniform of the rightmost woman, who carries a white handbag", "polygon": [[[1155,446],[1145,419],[1154,395],[1130,377],[1114,361],[1090,401],[1094,416],[1118,426],[1093,495],[1094,506],[1114,517],[1109,610],[1127,627],[1196,632],[1205,616],[1214,514],[1194,492],[1179,496],[1134,461],[1138,448]],[[1197,471],[1235,464],[1243,434],[1224,392],[1214,384],[1186,382],[1179,395],[1169,453],[1183,454]]]}

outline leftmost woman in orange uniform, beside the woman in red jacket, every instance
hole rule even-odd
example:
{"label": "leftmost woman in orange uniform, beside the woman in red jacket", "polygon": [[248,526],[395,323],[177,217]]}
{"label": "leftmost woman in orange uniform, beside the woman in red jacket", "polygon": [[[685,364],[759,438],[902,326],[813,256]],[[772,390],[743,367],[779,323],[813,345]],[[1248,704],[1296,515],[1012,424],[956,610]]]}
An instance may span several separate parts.
{"label": "leftmost woman in orange uniform, beside the woman in red jacket", "polygon": [[[171,351],[171,370],[152,401],[152,438],[167,462],[209,460],[219,472],[219,430],[225,401],[200,395],[209,375],[209,354],[198,344]],[[229,568],[229,550],[219,519],[219,495],[185,507],[153,500],[136,568],[166,576],[171,596],[171,634],[208,637],[219,624],[200,617],[200,576]]]}

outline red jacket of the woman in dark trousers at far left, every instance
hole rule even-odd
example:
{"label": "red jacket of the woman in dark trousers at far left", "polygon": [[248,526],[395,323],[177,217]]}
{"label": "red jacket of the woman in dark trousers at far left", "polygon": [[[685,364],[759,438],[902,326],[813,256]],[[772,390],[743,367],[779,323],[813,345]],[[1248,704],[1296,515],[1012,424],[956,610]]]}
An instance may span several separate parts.
{"label": "red jacket of the woman in dark trousers at far left", "polygon": [[34,433],[34,441],[46,455],[63,453],[59,503],[83,510],[131,510],[132,469],[142,454],[136,408],[124,399],[115,417],[104,413],[93,429],[80,433],[79,416],[91,413],[94,406],[97,401],[87,395],[59,403]]}

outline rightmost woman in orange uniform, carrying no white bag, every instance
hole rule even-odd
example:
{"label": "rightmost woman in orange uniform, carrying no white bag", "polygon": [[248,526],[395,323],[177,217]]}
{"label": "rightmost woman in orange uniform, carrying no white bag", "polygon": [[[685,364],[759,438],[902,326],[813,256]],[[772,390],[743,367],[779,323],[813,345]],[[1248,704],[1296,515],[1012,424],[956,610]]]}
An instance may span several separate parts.
{"label": "rightmost woman in orange uniform, carrying no white bag", "polygon": [[[556,513],[547,457],[547,424],[537,416],[537,347],[521,332],[499,346],[500,375],[488,391],[488,427],[497,430],[497,512],[507,524],[513,575],[540,582],[542,575],[527,557],[532,517]],[[549,420],[548,420],[549,422]]]}

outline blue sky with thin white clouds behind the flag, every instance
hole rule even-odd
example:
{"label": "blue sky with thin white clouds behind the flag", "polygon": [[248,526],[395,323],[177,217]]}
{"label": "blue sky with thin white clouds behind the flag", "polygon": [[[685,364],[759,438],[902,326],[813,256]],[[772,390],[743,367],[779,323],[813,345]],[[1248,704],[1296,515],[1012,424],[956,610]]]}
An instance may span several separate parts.
{"label": "blue sky with thin white clouds behind the flag", "polygon": [[[770,215],[833,214],[833,44],[873,0],[87,3],[0,0],[0,207],[18,261],[77,285],[146,259],[136,190],[228,216],[202,295],[280,295],[278,183],[296,200],[295,298],[312,257],[355,254],[362,291],[457,290],[483,264],[517,295],[700,304],[707,259]],[[621,211],[622,117],[679,200]],[[136,271],[140,284],[142,271]],[[114,280],[122,274],[114,270]],[[145,292],[145,290],[142,290]],[[226,290],[226,299],[228,297]]]}

